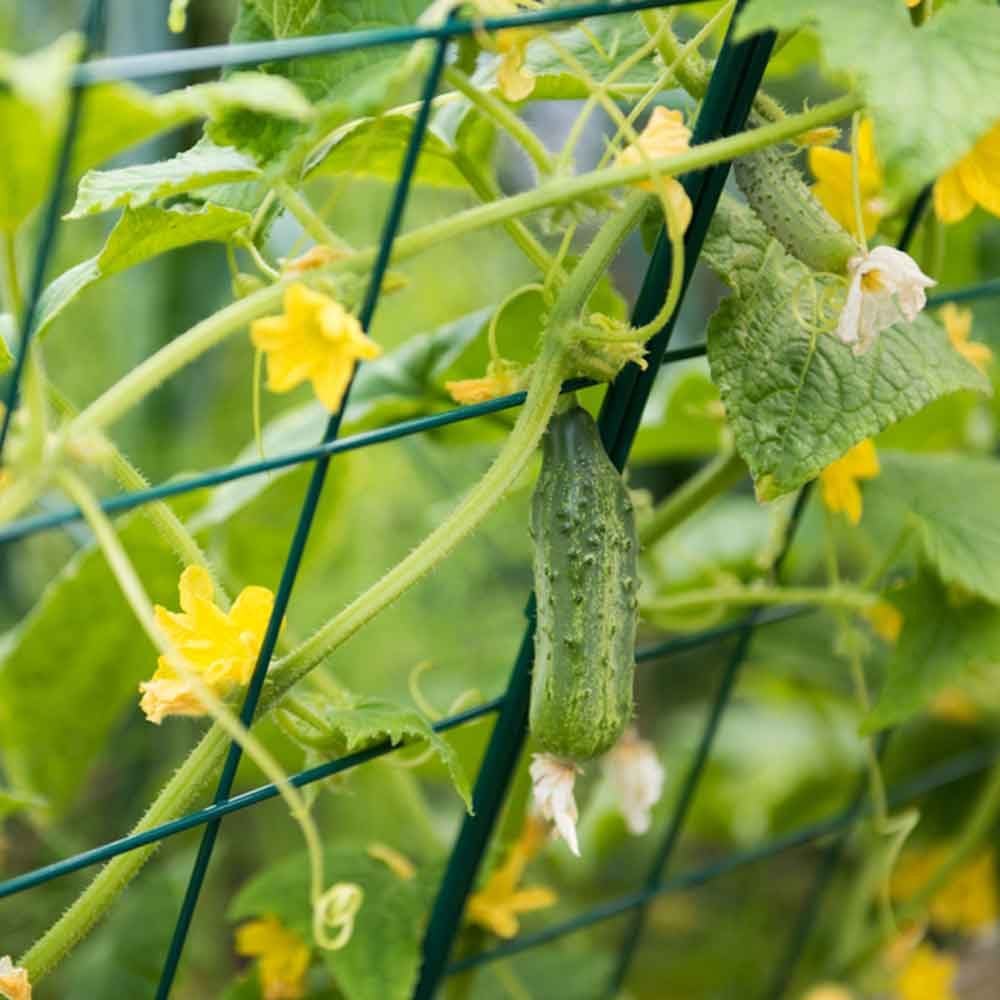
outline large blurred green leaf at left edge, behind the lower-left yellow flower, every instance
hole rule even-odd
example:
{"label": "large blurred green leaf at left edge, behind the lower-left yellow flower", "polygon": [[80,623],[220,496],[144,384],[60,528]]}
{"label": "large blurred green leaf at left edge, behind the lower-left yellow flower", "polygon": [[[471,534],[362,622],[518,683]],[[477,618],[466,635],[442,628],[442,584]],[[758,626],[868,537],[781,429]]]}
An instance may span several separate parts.
{"label": "large blurred green leaf at left edge, behind the lower-left yellow flower", "polygon": [[[176,563],[149,524],[131,518],[121,538],[147,592],[176,600]],[[14,791],[41,795],[53,817],[62,813],[84,790],[91,765],[155,666],[153,647],[104,555],[80,552],[4,637],[0,747]]]}

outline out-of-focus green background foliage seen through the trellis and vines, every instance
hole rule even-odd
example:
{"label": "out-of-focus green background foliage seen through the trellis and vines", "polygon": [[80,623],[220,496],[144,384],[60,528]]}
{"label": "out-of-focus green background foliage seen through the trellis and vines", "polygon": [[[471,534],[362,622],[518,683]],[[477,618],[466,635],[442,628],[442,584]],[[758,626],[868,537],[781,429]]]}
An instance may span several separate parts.
{"label": "out-of-focus green background foliage seen through the trellis and vines", "polygon": [[[107,51],[121,54],[223,42],[235,9],[233,0],[195,0],[186,34],[176,37],[166,29],[165,3],[113,0],[108,4]],[[714,9],[715,5],[698,5],[682,23],[693,25]],[[0,45],[29,51],[72,28],[80,13],[80,4],[68,0],[46,4],[6,0],[0,4]],[[815,42],[806,32],[781,52],[769,70],[769,87],[789,106],[798,106],[803,99],[818,102],[832,92],[830,81],[817,76],[815,58]],[[179,83],[159,81],[157,86]],[[541,101],[527,115],[547,144],[558,149],[580,103]],[[590,163],[596,159],[606,129],[607,122],[595,116],[580,166],[588,165],[588,158]],[[188,148],[199,133],[198,127],[182,128],[121,162],[166,158]],[[519,157],[502,144],[499,156],[505,187],[513,190],[526,183],[525,164]],[[313,204],[327,206],[332,228],[355,245],[377,239],[390,191],[385,180],[344,174],[321,177],[307,188]],[[418,185],[406,225],[414,227],[474,203],[468,190]],[[96,253],[110,225],[107,217],[64,224],[52,275]],[[25,266],[34,236],[28,232],[22,241]],[[293,254],[304,246],[301,236],[293,223],[280,220],[271,237],[273,254]],[[586,231],[581,243],[585,239]],[[917,249],[918,255],[926,252],[919,243]],[[636,290],[644,262],[636,238],[615,264],[614,284],[626,301]],[[938,277],[942,287],[954,287],[993,276],[998,262],[1000,225],[976,212],[949,231]],[[459,368],[469,374],[480,370],[486,357],[483,331],[491,307],[530,280],[532,273],[499,230],[435,247],[399,270],[405,287],[380,306],[374,337],[390,351],[464,317],[464,327],[457,333],[467,336],[469,346]],[[699,273],[685,302],[675,346],[700,342],[720,294],[714,279]],[[220,246],[194,246],[142,264],[88,290],[60,316],[46,343],[49,371],[66,395],[83,405],[230,298],[229,271]],[[536,316],[537,304],[533,306],[530,299],[506,314],[501,327],[505,350],[515,356],[530,351]],[[995,303],[975,306],[976,334],[995,349],[1000,349],[998,316]],[[227,341],[150,396],[117,428],[117,442],[153,482],[223,465],[238,455],[253,455],[252,360],[246,337]],[[438,384],[442,381],[438,379]],[[597,394],[592,395],[595,401]],[[291,398],[265,393],[269,453],[293,443],[308,444],[318,436],[322,416],[309,405],[309,398],[306,391]],[[367,411],[361,406],[355,411],[353,427],[448,405],[443,394],[431,400],[407,399],[405,393],[385,398],[373,389],[372,398],[375,402]],[[716,401],[704,362],[686,362],[664,371],[637,440],[631,485],[659,499],[713,454],[720,441],[713,411]],[[995,441],[995,407],[971,394],[948,397],[886,431],[879,447],[987,451]],[[293,410],[293,418],[272,423]],[[337,457],[296,587],[286,641],[306,635],[437,524],[454,498],[485,469],[510,420],[509,415],[500,415]],[[306,469],[275,474],[254,481],[249,491],[241,492],[239,485],[224,487],[178,504],[199,526],[199,537],[233,591],[248,583],[275,586],[307,475]],[[483,697],[499,692],[519,641],[530,585],[526,530],[530,486],[531,477],[526,477],[482,531],[347,643],[324,669],[354,690],[409,702],[414,668],[429,663],[420,685],[442,713],[470,689]],[[227,504],[236,509],[228,518]],[[787,513],[787,505],[759,506],[744,485],[657,544],[647,554],[647,572],[652,579],[676,587],[722,576],[747,579],[758,572],[761,553],[773,546],[782,510]],[[123,537],[152,596],[175,606],[173,558],[150,538],[141,518],[132,515],[119,522]],[[852,558],[861,565],[884,543],[876,530],[876,514],[871,525],[873,535],[866,534],[865,527],[851,539],[845,533],[846,571]],[[789,563],[793,577],[808,580],[818,574],[820,533],[820,516],[813,505]],[[0,618],[12,627],[35,609],[36,619],[28,627],[37,633],[22,656],[19,675],[26,705],[30,702],[28,708],[38,712],[25,716],[34,727],[35,748],[11,752],[5,767],[8,778],[17,773],[31,776],[49,799],[46,805],[7,820],[0,842],[5,873],[121,835],[201,728],[188,720],[171,720],[153,729],[142,719],[127,692],[152,671],[154,654],[120,606],[100,557],[88,554],[87,545],[87,532],[75,526],[0,550]],[[68,560],[72,562],[64,570]],[[64,586],[58,599],[46,605],[45,588],[61,572],[75,575],[75,586]],[[96,630],[95,621],[100,622]],[[645,638],[659,635],[647,629]],[[92,648],[85,648],[88,643]],[[861,749],[849,684],[841,664],[830,654],[831,645],[832,626],[821,615],[759,632],[702,783],[676,870],[821,819],[848,801]],[[640,667],[640,726],[644,736],[655,740],[668,774],[653,832],[641,839],[616,840],[606,850],[595,847],[579,866],[561,846],[548,851],[537,864],[535,881],[556,888],[560,901],[557,908],[526,918],[526,928],[569,916],[636,886],[728,653],[729,643],[723,642]],[[873,655],[875,671],[885,655],[878,651]],[[65,667],[55,682],[58,691],[49,673],[33,674],[32,664],[46,660]],[[81,664],[87,669],[79,669]],[[104,671],[115,675],[113,691],[102,684]],[[890,776],[901,778],[948,753],[995,738],[993,707],[980,706],[966,717],[944,713],[906,727],[889,757]],[[302,766],[301,752],[273,725],[265,723],[262,730],[289,769]],[[88,739],[88,731],[96,735]],[[487,733],[488,723],[482,723],[449,737],[470,774]],[[261,780],[247,764],[239,786]],[[433,761],[414,769],[379,762],[324,786],[317,815],[331,844],[382,841],[414,859],[437,862],[461,817],[461,803],[450,792],[443,768]],[[922,802],[927,829],[935,823],[946,828],[948,818],[964,811],[976,788],[977,780],[967,779]],[[427,829],[414,820],[412,803],[419,795],[426,796],[431,807]],[[39,989],[39,996],[68,1000],[152,996],[197,836],[195,831],[165,845],[107,923]],[[251,876],[299,847],[298,833],[277,802],[226,821],[176,996],[221,995],[237,970],[246,968],[233,952],[232,924],[226,915],[230,902]],[[754,990],[762,988],[784,947],[821,850],[822,845],[801,848],[739,869],[696,891],[658,899],[650,910],[648,933],[629,982],[630,995],[710,1000],[748,996],[751,984]],[[17,954],[25,947],[74,897],[87,875],[63,878],[4,900],[0,952]],[[835,924],[839,891],[824,911],[827,923]],[[621,930],[620,921],[611,921],[489,966],[461,988],[470,991],[466,995],[482,998],[584,1000],[596,995],[595,983],[607,975]],[[820,928],[817,952],[835,930],[835,926]],[[472,943],[466,942],[469,947]],[[245,989],[232,995],[255,995],[252,984]],[[333,995],[328,990],[317,985],[310,995]]]}

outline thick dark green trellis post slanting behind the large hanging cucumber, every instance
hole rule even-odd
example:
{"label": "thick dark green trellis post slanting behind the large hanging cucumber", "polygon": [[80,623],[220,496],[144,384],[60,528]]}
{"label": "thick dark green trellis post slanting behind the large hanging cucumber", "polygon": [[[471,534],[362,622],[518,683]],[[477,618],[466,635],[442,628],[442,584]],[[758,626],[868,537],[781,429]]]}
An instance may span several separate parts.
{"label": "thick dark green trellis post slanting behind the large hanging cucumber", "polygon": [[[753,96],[763,75],[773,36],[734,45],[727,35],[712,75],[702,113],[695,127],[695,145],[738,131],[746,121]],[[685,234],[686,290],[694,262],[701,250],[709,221],[729,166],[719,165],[683,178],[692,200],[693,217]],[[668,241],[661,232],[633,314],[633,323],[652,320],[666,296],[664,275],[670,273]],[[676,316],[677,310],[674,311]],[[601,409],[601,434],[612,461],[622,468],[673,331],[668,321],[649,345],[649,367],[639,373],[630,366],[614,382]],[[424,938],[423,966],[414,997],[430,1000],[445,975],[448,958],[493,828],[524,746],[527,731],[531,664],[534,646],[535,605],[532,596],[526,611],[528,627],[511,673],[504,707],[486,748],[473,793],[474,815],[467,816],[452,850],[438,890]]]}

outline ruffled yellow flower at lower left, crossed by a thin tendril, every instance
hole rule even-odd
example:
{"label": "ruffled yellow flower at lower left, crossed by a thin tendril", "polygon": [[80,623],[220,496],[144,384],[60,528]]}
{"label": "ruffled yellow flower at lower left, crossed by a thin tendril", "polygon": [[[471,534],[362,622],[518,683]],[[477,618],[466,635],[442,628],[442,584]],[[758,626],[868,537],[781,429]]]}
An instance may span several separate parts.
{"label": "ruffled yellow flower at lower left, crossed by a thin tendril", "polygon": [[[178,590],[181,611],[157,605],[156,624],[205,684],[225,697],[250,680],[274,595],[265,587],[245,587],[226,613],[212,603],[212,579],[201,566],[184,570]],[[157,661],[152,680],[139,690],[139,707],[157,725],[168,715],[205,714],[191,685],[165,656]]]}

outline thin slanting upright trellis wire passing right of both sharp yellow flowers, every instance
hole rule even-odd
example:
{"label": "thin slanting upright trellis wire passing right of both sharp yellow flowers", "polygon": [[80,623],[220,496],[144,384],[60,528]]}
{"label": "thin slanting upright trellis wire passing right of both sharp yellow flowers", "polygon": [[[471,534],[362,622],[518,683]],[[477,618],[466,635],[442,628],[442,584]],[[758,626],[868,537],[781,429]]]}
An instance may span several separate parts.
{"label": "thin slanting upright trellis wire passing right of both sharp yellow flowers", "polygon": [[[441,81],[441,73],[444,70],[447,51],[448,39],[443,38],[435,47],[434,60],[424,82],[423,92],[421,94],[420,110],[418,111],[416,119],[413,123],[413,131],[410,134],[410,141],[407,145],[406,157],[403,161],[402,171],[400,173],[399,181],[396,184],[393,200],[389,207],[389,212],[386,216],[386,221],[382,230],[378,257],[372,269],[372,276],[365,293],[364,303],[358,314],[359,322],[365,330],[370,329],[372,317],[374,316],[376,306],[378,305],[379,296],[382,290],[382,282],[385,277],[385,272],[389,266],[389,259],[392,256],[392,245],[402,223],[407,196],[409,194],[410,185],[416,170],[417,160],[420,156],[420,150],[423,146],[424,136],[427,132],[432,101],[437,93],[437,88]],[[352,377],[352,385],[353,381],[354,379]],[[327,423],[326,430],[323,434],[324,443],[332,441],[340,431],[340,424],[343,419],[344,409],[347,406],[350,390],[351,385],[348,385],[347,392],[344,394],[344,399],[341,402],[340,409],[333,414]],[[240,718],[246,726],[249,726],[253,722],[254,712],[256,711],[257,702],[264,686],[264,679],[267,675],[268,664],[270,663],[271,655],[274,652],[274,646],[278,638],[278,631],[281,627],[281,622],[285,617],[285,611],[291,598],[295,578],[298,575],[299,566],[302,562],[302,556],[305,552],[310,529],[312,528],[313,518],[316,515],[316,508],[319,505],[319,499],[323,490],[323,484],[326,479],[329,464],[330,456],[324,455],[320,457],[316,461],[312,477],[309,480],[309,486],[306,490],[302,510],[299,514],[299,520],[295,527],[295,534],[289,548],[288,558],[286,559],[284,569],[282,570],[281,581],[278,585],[278,592],[275,596],[274,609],[271,613],[270,620],[268,621],[267,631],[265,632],[264,640],[261,643],[260,653],[254,667],[254,673],[247,688],[243,707],[240,711]],[[216,788],[214,799],[216,803],[225,801],[229,797],[233,780],[236,777],[236,769],[239,765],[241,757],[242,749],[239,744],[235,742],[232,743],[229,747],[229,753],[226,756],[226,760],[222,768],[222,774],[219,778],[219,784]],[[201,843],[198,848],[198,855],[195,858],[194,867],[191,871],[191,877],[188,881],[187,891],[184,895],[184,901],[181,904],[181,910],[177,917],[177,924],[174,927],[174,934],[170,942],[170,948],[167,952],[163,972],[160,977],[160,983],[157,987],[157,1000],[166,1000],[170,994],[174,977],[177,974],[177,967],[180,963],[181,953],[184,949],[187,932],[191,926],[191,919],[194,916],[195,907],[198,903],[198,897],[201,893],[201,887],[204,883],[205,874],[208,870],[208,864],[211,860],[212,851],[215,847],[215,840],[219,832],[220,823],[221,819],[213,820],[208,823],[202,834]]]}

